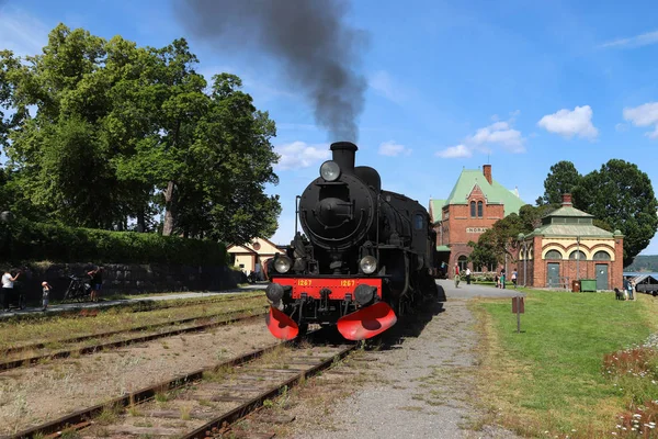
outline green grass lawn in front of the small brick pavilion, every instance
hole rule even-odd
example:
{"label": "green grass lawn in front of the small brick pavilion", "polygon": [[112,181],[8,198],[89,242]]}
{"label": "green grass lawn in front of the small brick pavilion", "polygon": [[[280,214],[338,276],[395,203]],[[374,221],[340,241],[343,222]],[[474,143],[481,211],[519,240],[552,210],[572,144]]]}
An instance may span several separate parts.
{"label": "green grass lawn in front of the small brick pavilion", "polygon": [[656,302],[650,296],[615,301],[614,293],[525,291],[521,334],[511,300],[475,304],[485,340],[480,379],[490,407],[502,408],[502,423],[523,435],[610,435],[628,395],[604,375],[603,358],[656,330]]}

